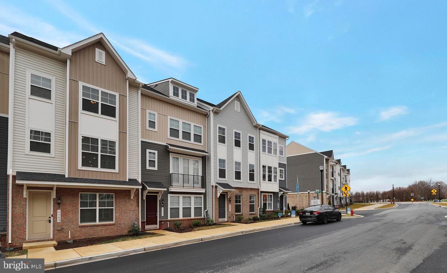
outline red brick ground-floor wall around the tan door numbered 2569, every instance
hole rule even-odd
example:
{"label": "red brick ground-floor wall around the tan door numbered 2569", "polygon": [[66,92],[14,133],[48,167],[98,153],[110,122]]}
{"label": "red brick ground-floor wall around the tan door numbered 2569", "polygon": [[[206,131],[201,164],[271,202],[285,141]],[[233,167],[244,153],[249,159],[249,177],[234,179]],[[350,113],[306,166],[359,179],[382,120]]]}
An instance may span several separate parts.
{"label": "red brick ground-floor wall around the tan door numbered 2569", "polygon": [[[23,185],[16,184],[13,176],[13,215],[12,244],[8,246],[21,247],[27,242],[46,241],[49,239],[26,240],[26,200],[23,197]],[[8,185],[9,186],[9,185]],[[27,189],[52,190],[52,187],[31,187]],[[9,191],[9,189],[8,189]],[[115,221],[108,224],[79,224],[79,193],[114,193]],[[126,234],[132,223],[138,223],[139,197],[138,190],[131,199],[130,189],[80,189],[56,188],[56,198],[53,198],[53,238],[51,240],[67,240],[68,231],[72,239],[101,237]],[[57,204],[61,197],[60,208]],[[9,198],[9,196],[8,196]],[[8,200],[9,201],[9,200]],[[61,210],[61,222],[57,223],[57,210]]]}

